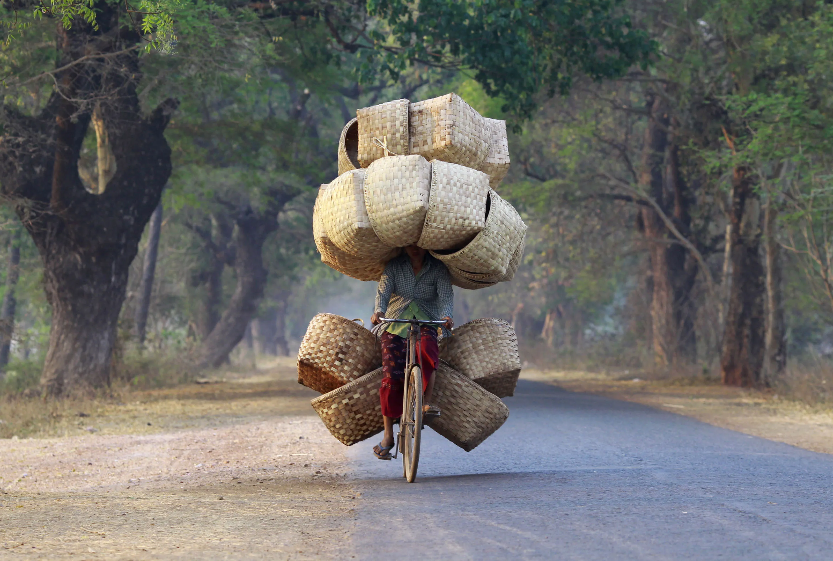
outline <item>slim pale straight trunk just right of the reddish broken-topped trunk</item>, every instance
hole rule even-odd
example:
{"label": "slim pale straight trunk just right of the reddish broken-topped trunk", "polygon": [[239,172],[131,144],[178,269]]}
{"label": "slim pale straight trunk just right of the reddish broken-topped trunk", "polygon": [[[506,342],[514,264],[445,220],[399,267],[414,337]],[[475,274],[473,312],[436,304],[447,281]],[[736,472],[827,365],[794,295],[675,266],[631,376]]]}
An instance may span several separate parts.
{"label": "slim pale straight trunk just right of the reddish broken-topped trunk", "polygon": [[766,250],[766,353],[763,378],[766,385],[781,376],[786,368],[786,320],[781,244],[778,243],[778,209],[771,198],[764,211]]}

